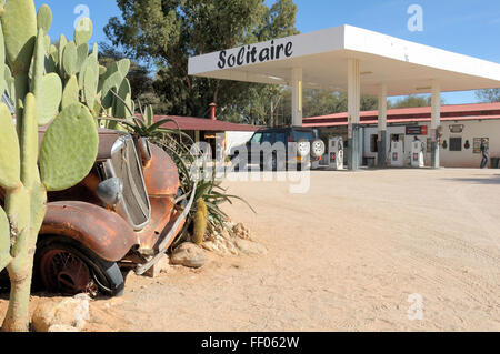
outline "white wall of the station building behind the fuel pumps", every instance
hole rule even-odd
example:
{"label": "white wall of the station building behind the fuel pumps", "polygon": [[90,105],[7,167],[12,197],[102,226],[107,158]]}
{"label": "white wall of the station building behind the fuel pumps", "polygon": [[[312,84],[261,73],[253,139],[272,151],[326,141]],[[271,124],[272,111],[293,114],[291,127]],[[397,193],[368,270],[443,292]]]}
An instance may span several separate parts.
{"label": "white wall of the station building behind the fuel pumps", "polygon": [[[463,132],[460,134],[453,134],[450,132],[450,125],[463,124]],[[408,125],[428,125],[430,134],[430,123],[424,124],[408,124]],[[490,139],[490,160],[491,158],[500,158],[500,120],[484,120],[484,121],[446,121],[441,122],[442,125],[442,141],[447,141],[448,148],[440,146],[440,162],[443,168],[479,168],[482,155],[473,153],[474,138],[489,138]],[[377,158],[377,153],[371,152],[370,142],[371,135],[378,134],[376,127],[367,127],[364,130],[364,156]],[[387,151],[390,149],[390,135],[391,134],[404,134],[406,127],[388,127],[388,142]],[[450,151],[450,138],[462,138],[462,151]],[[421,141],[427,144],[427,140],[430,135],[419,135]],[[464,149],[466,141],[469,140],[470,148]],[[404,136],[404,153],[409,161],[411,152],[411,142],[413,135]],[[430,165],[430,146],[427,149],[426,165]]]}

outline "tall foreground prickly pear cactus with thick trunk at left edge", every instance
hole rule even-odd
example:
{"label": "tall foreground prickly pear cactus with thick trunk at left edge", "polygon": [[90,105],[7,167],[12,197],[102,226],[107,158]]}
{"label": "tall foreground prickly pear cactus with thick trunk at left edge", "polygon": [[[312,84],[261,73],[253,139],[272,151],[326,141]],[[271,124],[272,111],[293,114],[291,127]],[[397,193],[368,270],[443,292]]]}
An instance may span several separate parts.
{"label": "tall foreground prickly pear cactus with thick trunk at left edge", "polygon": [[[0,94],[7,90],[14,95],[17,119],[14,127],[9,109],[0,103],[0,188],[6,193],[4,210],[0,208],[0,271],[7,267],[11,281],[2,330],[28,331],[32,263],[47,191],[80,182],[97,156],[96,120],[79,102],[74,77],[88,54],[91,26],[76,34],[78,48],[63,37],[56,48],[46,34],[52,20],[48,6],[37,14],[33,0],[8,0],[0,7],[0,73],[6,73],[0,74]],[[97,61],[92,64],[89,82],[98,80]],[[38,159],[38,125],[49,122]]]}

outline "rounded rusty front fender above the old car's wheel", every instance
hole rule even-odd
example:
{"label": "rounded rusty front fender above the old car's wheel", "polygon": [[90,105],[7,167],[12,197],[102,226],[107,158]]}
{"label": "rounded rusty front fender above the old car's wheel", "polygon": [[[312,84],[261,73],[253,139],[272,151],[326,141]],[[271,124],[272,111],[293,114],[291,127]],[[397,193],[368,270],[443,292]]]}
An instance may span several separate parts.
{"label": "rounded rusty front fender above the old car's wheel", "polygon": [[109,262],[122,260],[139,244],[132,227],[117,213],[77,201],[49,203],[39,235],[72,239]]}

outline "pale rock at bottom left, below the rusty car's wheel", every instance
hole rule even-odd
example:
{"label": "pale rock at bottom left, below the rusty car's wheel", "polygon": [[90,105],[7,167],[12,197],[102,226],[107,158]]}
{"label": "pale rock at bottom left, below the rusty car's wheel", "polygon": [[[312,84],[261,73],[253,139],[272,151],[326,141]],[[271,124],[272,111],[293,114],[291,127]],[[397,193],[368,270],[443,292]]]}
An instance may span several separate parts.
{"label": "pale rock at bottom left, below the rusty car's wheel", "polygon": [[[46,302],[40,304],[33,313],[32,324],[36,332],[59,332],[58,330],[81,331],[90,320],[90,297],[79,294],[61,302]],[[61,331],[68,332],[68,331]],[[74,332],[74,331],[70,331]]]}

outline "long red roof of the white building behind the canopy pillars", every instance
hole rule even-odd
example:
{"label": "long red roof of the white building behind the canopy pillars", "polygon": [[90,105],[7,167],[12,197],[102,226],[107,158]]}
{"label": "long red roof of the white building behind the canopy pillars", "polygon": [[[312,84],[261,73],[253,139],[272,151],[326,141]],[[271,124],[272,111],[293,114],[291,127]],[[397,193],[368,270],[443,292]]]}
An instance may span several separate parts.
{"label": "long red roof of the white building behind the canopy pillars", "polygon": [[[361,124],[377,124],[378,111],[360,113]],[[448,104],[441,107],[441,121],[500,119],[499,103]],[[430,107],[392,109],[387,111],[388,123],[427,122],[431,120]],[[348,113],[336,113],[303,119],[303,127],[347,125]]]}

